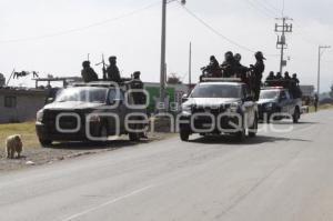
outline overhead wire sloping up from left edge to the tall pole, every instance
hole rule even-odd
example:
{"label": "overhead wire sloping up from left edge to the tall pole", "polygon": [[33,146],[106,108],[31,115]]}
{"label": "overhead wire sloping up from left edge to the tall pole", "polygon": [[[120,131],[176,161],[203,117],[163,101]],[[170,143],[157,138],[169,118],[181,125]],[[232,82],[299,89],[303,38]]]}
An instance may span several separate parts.
{"label": "overhead wire sloping up from left edge to the tall pole", "polygon": [[155,2],[153,2],[151,4],[148,4],[148,6],[139,8],[139,9],[135,9],[135,10],[130,11],[128,13],[123,13],[123,14],[121,14],[119,17],[114,17],[114,18],[111,18],[111,19],[105,19],[105,20],[102,20],[102,21],[98,21],[98,22],[91,23],[89,26],[83,26],[83,27],[79,27],[79,28],[69,29],[69,30],[65,30],[65,31],[59,31],[59,32],[53,32],[53,33],[42,34],[42,36],[36,36],[36,37],[28,37],[28,38],[20,38],[20,39],[9,39],[9,40],[0,40],[0,43],[13,43],[13,42],[22,42],[22,41],[33,41],[33,40],[41,40],[41,39],[54,38],[54,37],[59,37],[59,36],[65,36],[65,34],[70,34],[70,33],[73,33],[73,32],[80,32],[80,31],[84,31],[87,29],[91,29],[91,28],[104,26],[107,23],[114,22],[114,21],[128,18],[128,17],[134,16],[137,13],[140,13],[140,12],[142,12],[142,11],[144,11],[147,9],[150,9],[152,7],[155,7],[158,4],[160,4],[160,1],[155,1]]}

